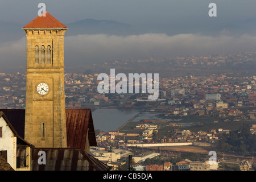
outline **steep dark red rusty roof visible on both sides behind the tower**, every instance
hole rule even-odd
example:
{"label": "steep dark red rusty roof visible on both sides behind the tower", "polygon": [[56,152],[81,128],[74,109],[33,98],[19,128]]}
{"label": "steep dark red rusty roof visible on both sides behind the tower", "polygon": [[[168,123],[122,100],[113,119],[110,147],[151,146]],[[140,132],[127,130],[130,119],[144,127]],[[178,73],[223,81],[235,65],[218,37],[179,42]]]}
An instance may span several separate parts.
{"label": "steep dark red rusty roof visible on both sides behind the tower", "polygon": [[[24,138],[25,109],[0,109],[0,111],[5,113],[18,135]],[[66,109],[66,123],[68,147],[84,150],[87,134],[90,146],[97,146],[90,109]]]}

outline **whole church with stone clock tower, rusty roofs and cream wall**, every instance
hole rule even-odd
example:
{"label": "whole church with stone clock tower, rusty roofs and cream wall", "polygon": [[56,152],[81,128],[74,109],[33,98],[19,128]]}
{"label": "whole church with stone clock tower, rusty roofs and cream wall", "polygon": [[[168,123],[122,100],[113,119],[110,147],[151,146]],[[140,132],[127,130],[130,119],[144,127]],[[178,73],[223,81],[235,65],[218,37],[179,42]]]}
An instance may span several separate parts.
{"label": "whole church with stone clock tower, rusty roofs and cream wall", "polygon": [[[91,110],[65,109],[64,35],[68,27],[45,11],[23,30],[27,37],[26,109],[0,109],[0,142],[5,141],[0,143],[0,155],[14,170],[110,170],[89,154],[89,147],[97,146]],[[39,163],[42,151],[46,159]]]}

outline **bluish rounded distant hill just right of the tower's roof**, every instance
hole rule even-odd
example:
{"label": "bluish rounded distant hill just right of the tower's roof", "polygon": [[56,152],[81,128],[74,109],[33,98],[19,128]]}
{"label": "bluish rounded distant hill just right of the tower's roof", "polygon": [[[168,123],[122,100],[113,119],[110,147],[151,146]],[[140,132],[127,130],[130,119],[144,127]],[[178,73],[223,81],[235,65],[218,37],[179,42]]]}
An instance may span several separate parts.
{"label": "bluish rounded distant hill just right of the tower's roof", "polygon": [[79,34],[108,34],[131,35],[136,34],[135,28],[130,24],[112,20],[84,19],[74,23],[65,24],[68,27],[66,35]]}

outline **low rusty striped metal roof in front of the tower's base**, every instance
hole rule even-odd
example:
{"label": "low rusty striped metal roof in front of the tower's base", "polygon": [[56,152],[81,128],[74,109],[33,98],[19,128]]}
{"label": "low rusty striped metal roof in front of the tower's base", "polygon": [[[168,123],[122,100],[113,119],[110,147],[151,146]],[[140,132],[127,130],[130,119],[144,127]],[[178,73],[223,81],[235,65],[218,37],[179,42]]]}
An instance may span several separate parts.
{"label": "low rusty striped metal roof in front of the tower's base", "polygon": [[[39,151],[46,152],[46,164],[38,163]],[[31,169],[32,171],[108,171],[111,167],[81,149],[32,148]]]}

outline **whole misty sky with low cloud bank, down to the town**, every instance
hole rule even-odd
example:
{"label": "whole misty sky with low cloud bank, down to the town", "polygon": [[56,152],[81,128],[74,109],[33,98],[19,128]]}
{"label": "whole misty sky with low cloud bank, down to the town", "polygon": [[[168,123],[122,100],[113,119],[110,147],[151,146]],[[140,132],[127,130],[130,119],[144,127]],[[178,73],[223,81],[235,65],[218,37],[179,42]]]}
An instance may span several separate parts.
{"label": "whole misty sky with low cloud bank, down to the town", "polygon": [[[67,34],[66,66],[256,48],[255,0],[0,0],[2,67],[26,65],[26,38],[21,28],[36,18],[41,2],[47,2],[47,11],[63,24],[92,18],[127,23],[143,30],[143,34],[127,36]],[[217,5],[217,17],[208,15],[212,2]]]}

